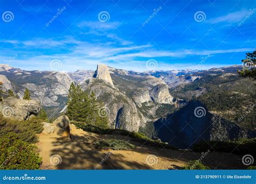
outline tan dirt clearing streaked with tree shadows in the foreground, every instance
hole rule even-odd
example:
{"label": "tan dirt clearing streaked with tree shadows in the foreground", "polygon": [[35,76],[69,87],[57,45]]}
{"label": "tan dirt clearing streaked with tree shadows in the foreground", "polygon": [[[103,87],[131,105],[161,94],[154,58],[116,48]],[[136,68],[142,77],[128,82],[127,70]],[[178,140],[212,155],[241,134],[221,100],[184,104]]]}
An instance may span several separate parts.
{"label": "tan dirt clearing streaked with tree shadows in the foreground", "polygon": [[[38,136],[37,146],[43,159],[42,169],[175,169],[201,157],[201,153],[141,146],[141,143],[134,141],[130,141],[137,146],[134,151],[97,150],[93,144],[98,140],[130,138],[122,135],[98,135],[75,126],[71,128],[71,140],[43,133]],[[55,156],[51,160],[52,155]],[[61,163],[57,164],[60,160]],[[202,161],[212,169],[245,168],[239,155],[228,153],[210,152]]]}

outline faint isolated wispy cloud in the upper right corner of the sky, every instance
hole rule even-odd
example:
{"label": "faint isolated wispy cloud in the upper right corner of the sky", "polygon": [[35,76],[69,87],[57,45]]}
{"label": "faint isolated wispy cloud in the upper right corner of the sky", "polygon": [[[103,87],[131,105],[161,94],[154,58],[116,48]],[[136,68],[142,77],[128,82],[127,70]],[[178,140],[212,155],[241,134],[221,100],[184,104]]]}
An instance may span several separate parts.
{"label": "faint isolated wispy cloud in the upper right corner of the sky", "polygon": [[240,10],[232,13],[228,13],[227,15],[212,18],[207,20],[206,22],[211,24],[217,23],[238,23],[242,18],[244,18],[248,14],[248,10]]}

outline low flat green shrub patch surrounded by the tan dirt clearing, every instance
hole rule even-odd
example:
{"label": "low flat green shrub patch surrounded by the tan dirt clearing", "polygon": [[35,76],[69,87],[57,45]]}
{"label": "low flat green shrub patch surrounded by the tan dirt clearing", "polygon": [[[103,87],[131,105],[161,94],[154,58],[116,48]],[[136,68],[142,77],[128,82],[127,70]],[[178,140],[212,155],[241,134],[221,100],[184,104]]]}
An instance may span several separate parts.
{"label": "low flat green shrub patch surrounded by the tan dirt clearing", "polygon": [[135,146],[125,140],[109,139],[98,141],[95,147],[99,149],[132,150]]}

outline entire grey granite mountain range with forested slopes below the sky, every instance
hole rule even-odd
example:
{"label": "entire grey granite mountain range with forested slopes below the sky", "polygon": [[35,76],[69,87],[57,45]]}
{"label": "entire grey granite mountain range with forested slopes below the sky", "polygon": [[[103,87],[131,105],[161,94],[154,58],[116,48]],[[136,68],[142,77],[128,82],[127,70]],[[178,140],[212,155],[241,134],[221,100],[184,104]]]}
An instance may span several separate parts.
{"label": "entire grey granite mountain range with forested slopes below the sky", "polygon": [[105,104],[111,128],[190,148],[204,140],[256,137],[255,81],[241,78],[237,74],[241,68],[141,73],[100,64],[95,71],[54,72],[1,64],[0,82],[3,90],[12,89],[19,98],[29,89],[48,115],[64,111],[74,82],[94,91]]}

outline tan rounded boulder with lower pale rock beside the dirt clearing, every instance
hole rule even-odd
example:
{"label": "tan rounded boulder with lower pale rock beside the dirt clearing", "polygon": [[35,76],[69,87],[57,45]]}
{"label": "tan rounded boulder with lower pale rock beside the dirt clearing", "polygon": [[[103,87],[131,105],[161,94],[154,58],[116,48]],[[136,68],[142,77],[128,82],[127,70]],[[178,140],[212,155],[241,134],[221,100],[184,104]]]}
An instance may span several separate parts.
{"label": "tan rounded boulder with lower pale rock beside the dirt clearing", "polygon": [[44,134],[54,133],[57,137],[70,137],[68,116],[60,116],[53,123],[44,123]]}

